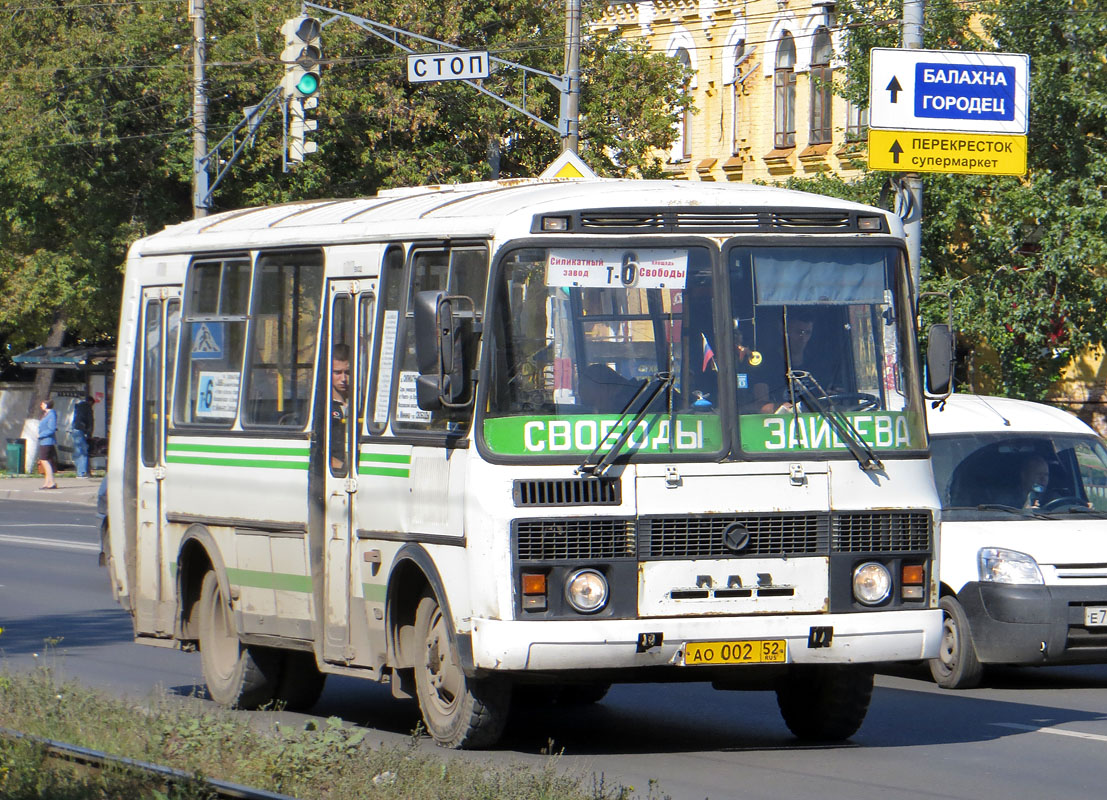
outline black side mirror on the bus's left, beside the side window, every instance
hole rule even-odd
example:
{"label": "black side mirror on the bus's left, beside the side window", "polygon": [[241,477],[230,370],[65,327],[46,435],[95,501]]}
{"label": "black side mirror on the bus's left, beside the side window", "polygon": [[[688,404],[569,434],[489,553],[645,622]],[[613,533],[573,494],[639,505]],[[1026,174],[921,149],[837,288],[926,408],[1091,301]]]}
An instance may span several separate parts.
{"label": "black side mirror on the bus's left, beside the side window", "polygon": [[[455,309],[468,303],[468,314]],[[415,398],[423,411],[463,407],[472,402],[465,335],[472,328],[473,301],[443,291],[415,294]],[[463,401],[464,398],[464,401]]]}

